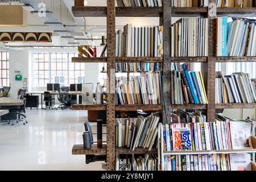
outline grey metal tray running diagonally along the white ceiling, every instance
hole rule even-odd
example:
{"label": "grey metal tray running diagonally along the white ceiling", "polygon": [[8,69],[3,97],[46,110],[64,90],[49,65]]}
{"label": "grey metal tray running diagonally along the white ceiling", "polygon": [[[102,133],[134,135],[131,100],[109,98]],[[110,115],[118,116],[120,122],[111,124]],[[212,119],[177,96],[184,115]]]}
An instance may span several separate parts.
{"label": "grey metal tray running diagonally along the white ceiling", "polygon": [[[31,13],[38,13],[40,12],[40,3],[44,3],[40,0],[0,0],[1,3],[23,3],[26,6],[31,6],[34,11]],[[67,31],[67,29],[63,26],[63,24],[55,17],[53,12],[46,9],[45,16],[40,17],[44,19],[44,23],[51,27],[56,34],[59,34],[61,38],[67,41],[67,43],[75,43],[74,45],[78,45],[79,43],[73,38],[71,34]]]}

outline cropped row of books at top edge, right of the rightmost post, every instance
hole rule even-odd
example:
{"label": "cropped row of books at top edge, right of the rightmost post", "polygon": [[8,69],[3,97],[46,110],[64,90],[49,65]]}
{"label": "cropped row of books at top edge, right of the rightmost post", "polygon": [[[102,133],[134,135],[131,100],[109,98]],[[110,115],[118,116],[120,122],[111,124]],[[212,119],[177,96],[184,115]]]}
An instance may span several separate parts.
{"label": "cropped row of books at top edge, right of the rightmost post", "polygon": [[254,0],[217,0],[217,7],[255,7]]}

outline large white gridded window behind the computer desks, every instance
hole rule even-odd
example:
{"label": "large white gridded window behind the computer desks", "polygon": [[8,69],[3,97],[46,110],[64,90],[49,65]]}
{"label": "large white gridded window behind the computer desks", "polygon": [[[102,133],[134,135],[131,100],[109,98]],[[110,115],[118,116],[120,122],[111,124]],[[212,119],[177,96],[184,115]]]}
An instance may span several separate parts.
{"label": "large white gridded window behind the computer desks", "polygon": [[68,86],[85,82],[85,63],[72,63],[77,53],[33,53],[33,86]]}

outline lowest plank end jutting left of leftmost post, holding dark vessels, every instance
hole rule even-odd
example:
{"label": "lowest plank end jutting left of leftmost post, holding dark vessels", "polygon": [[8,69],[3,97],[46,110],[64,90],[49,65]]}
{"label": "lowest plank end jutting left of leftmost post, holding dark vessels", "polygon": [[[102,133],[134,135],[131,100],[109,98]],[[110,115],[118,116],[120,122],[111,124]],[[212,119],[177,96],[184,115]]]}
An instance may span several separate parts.
{"label": "lowest plank end jutting left of leftmost post, holding dark vessels", "polygon": [[106,154],[106,145],[98,148],[97,145],[92,145],[90,150],[84,150],[84,145],[75,144],[72,148],[72,155],[104,155]]}

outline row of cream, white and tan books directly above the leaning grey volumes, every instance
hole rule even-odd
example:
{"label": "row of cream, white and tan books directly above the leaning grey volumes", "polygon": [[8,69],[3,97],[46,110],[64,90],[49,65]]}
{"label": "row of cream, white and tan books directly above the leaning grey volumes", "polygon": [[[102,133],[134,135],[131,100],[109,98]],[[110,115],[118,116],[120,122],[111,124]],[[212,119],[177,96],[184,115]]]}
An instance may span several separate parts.
{"label": "row of cream, white and tan books directly above the leaning grey volumes", "polygon": [[126,104],[162,104],[162,77],[160,72],[140,73],[140,76],[115,78],[115,102]]}

